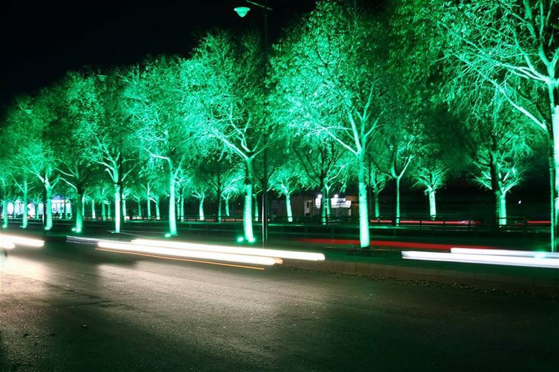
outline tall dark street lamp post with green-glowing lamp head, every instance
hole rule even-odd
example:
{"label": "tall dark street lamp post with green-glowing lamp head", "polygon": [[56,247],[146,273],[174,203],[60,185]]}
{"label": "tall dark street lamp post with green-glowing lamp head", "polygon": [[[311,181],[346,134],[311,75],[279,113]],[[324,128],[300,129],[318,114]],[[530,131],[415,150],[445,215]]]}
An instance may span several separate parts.
{"label": "tall dark street lamp post with green-glowing lamp head", "polygon": [[[262,10],[263,23],[264,23],[264,37],[263,37],[263,48],[264,48],[264,100],[263,100],[263,124],[264,124],[264,174],[262,177],[262,246],[266,247],[268,245],[268,107],[266,107],[268,99],[268,87],[266,87],[266,77],[268,76],[268,12],[272,8],[268,8],[268,0],[264,0],[264,3],[256,3],[254,1],[245,0],[247,3],[256,6]],[[250,8],[247,6],[238,6],[234,9],[239,17],[245,17],[249,13]]]}

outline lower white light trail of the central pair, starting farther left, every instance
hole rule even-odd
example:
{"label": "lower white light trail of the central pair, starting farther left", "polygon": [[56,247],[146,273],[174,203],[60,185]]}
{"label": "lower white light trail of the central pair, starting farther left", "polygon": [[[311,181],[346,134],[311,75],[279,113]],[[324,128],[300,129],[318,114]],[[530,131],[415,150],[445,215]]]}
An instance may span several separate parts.
{"label": "lower white light trail of the central pair, starting farther left", "polygon": [[111,248],[122,251],[148,253],[156,255],[169,255],[174,257],[200,258],[203,260],[217,260],[228,262],[239,262],[252,265],[273,266],[282,264],[281,258],[262,257],[256,255],[238,255],[231,253],[218,253],[206,251],[189,251],[185,249],[165,248],[161,246],[145,246],[132,243],[120,243],[115,241],[99,241],[99,248]]}

